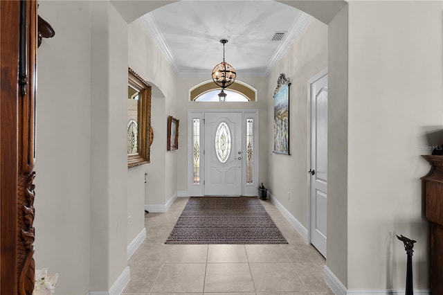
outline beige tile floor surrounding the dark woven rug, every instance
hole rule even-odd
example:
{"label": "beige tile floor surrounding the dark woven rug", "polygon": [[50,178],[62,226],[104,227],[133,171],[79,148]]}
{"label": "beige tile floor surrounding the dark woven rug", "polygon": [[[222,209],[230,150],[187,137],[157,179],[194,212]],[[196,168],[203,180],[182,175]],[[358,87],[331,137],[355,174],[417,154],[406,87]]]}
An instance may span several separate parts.
{"label": "beige tile floor surrounding the dark woven rug", "polygon": [[186,202],[145,215],[147,238],[128,262],[124,295],[334,294],[322,278],[323,256],[269,200],[261,202],[289,244],[165,244]]}

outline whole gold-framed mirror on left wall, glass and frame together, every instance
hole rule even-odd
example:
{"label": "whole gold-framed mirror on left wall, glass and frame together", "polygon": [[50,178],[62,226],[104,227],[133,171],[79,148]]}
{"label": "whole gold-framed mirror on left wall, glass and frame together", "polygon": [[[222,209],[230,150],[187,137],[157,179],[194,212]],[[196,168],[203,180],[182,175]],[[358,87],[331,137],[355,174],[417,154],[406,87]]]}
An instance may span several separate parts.
{"label": "whole gold-framed mirror on left wall, glass and frame together", "polygon": [[128,70],[127,167],[150,163],[152,87],[134,70]]}

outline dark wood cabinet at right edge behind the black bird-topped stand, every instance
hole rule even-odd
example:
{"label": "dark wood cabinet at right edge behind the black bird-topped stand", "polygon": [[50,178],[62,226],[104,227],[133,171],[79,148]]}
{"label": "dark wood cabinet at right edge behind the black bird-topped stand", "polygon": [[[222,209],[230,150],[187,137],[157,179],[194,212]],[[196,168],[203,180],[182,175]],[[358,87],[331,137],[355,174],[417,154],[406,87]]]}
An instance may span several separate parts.
{"label": "dark wood cabinet at right edge behind the black bird-topped stand", "polygon": [[431,294],[443,294],[443,156],[422,156],[431,164],[422,177],[426,219],[431,224]]}

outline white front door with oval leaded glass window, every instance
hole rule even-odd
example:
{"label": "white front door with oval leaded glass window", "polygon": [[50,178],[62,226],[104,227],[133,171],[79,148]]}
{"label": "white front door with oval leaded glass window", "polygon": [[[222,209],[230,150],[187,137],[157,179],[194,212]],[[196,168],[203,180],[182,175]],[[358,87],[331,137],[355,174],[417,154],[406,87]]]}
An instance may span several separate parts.
{"label": "white front door with oval leaded glass window", "polygon": [[242,113],[205,113],[205,195],[242,195]]}

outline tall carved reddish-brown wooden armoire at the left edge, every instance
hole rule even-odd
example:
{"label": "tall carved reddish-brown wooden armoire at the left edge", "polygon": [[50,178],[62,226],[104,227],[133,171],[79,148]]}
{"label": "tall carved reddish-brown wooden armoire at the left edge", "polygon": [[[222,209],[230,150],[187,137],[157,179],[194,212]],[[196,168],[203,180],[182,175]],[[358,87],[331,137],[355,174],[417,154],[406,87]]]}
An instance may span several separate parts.
{"label": "tall carved reddish-brown wooden armoire at the left edge", "polygon": [[0,1],[0,294],[33,294],[37,1]]}

